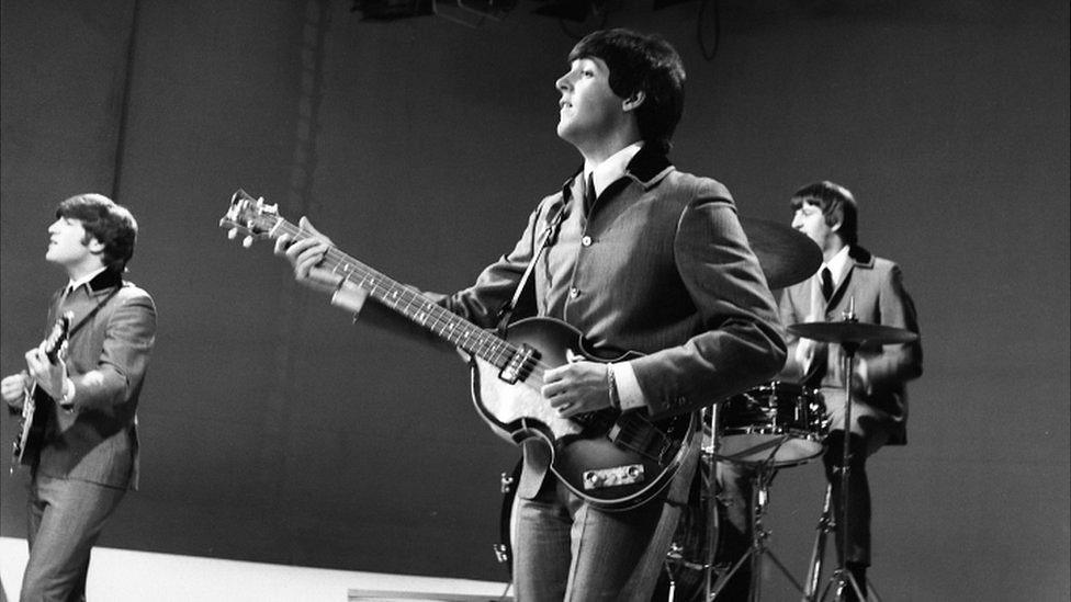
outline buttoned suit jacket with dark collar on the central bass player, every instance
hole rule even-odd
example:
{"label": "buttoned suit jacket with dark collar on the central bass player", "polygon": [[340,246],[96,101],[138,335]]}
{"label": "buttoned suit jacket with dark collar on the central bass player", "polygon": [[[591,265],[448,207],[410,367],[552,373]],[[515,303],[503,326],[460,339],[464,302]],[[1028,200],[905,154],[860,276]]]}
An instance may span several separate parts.
{"label": "buttoned suit jacket with dark collar on the central bass player", "polygon": [[[514,249],[440,302],[493,327],[564,211],[533,272],[537,314],[576,327],[596,353],[645,354],[631,364],[653,418],[696,411],[780,370],[777,307],[722,184],[677,171],[649,147],[589,215],[580,180],[543,198]],[[549,457],[541,444],[525,452],[517,495],[531,498]]]}

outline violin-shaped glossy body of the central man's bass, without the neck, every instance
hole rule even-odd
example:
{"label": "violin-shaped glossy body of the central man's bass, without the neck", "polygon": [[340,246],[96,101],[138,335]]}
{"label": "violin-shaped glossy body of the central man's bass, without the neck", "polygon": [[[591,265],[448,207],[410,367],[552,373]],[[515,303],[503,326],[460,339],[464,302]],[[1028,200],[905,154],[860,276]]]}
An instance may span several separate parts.
{"label": "violin-shaped glossy body of the central man's bass, without the neck", "polygon": [[[578,330],[549,318],[529,318],[510,326],[506,340],[537,351],[548,368],[567,363],[567,352],[596,362],[607,360],[584,349]],[[481,417],[500,436],[520,444],[536,439],[551,451],[551,472],[576,495],[602,510],[628,510],[650,500],[673,480],[696,432],[695,416],[658,422],[643,412],[606,409],[562,418],[527,380],[508,383],[499,368],[476,359],[472,395]]]}

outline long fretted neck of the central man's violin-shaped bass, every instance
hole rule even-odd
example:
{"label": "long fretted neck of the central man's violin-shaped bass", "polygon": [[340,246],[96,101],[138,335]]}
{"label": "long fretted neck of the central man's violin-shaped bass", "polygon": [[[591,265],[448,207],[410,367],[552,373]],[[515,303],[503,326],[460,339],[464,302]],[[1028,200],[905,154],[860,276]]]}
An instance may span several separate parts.
{"label": "long fretted neck of the central man's violin-shaped bass", "polygon": [[[294,240],[309,237],[302,228],[280,218],[272,237],[289,235]],[[342,276],[367,291],[369,296],[394,311],[424,327],[444,341],[476,355],[491,364],[503,367],[517,352],[517,348],[492,332],[446,309],[425,295],[402,285],[395,280],[348,255],[331,246],[324,257],[322,268]]]}

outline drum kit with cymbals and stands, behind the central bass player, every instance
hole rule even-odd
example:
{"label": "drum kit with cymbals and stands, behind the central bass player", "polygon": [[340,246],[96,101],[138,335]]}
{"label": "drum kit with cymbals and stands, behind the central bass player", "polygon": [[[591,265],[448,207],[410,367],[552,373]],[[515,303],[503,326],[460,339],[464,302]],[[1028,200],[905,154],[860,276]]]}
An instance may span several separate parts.
{"label": "drum kit with cymbals and stands, behind the central bass player", "polygon": [[[783,288],[802,282],[814,274],[822,263],[818,245],[802,232],[788,226],[762,220],[741,220],[752,250],[758,258],[770,288]],[[789,332],[820,342],[836,343],[844,350],[844,374],[852,374],[855,354],[864,344],[899,344],[915,340],[917,334],[907,330],[876,323],[859,322],[854,315],[854,303],[843,316],[843,321],[803,322],[788,326]],[[852,390],[845,388],[845,424],[852,423]],[[769,549],[769,532],[763,526],[763,518],[769,499],[769,486],[777,469],[798,466],[822,455],[828,419],[822,394],[808,387],[771,382],[760,387],[715,404],[703,410],[703,448],[700,470],[703,473],[694,495],[694,503],[685,509],[677,535],[666,556],[665,569],[669,580],[670,602],[717,600],[729,580],[744,563],[749,563],[749,601],[760,595],[762,563],[765,557],[780,569],[802,594],[803,602],[844,600],[850,590],[864,598],[866,583],[856,583],[841,561],[833,571],[827,587],[820,590],[825,536],[835,529],[842,549],[847,546],[847,481],[850,477],[848,446],[842,458],[842,498],[834,516],[831,510],[831,488],[826,488],[825,503],[819,519],[819,535],[809,563],[805,586],[801,586],[785,565]],[[717,564],[718,549],[718,463],[732,463],[745,467],[754,477],[752,489],[751,545],[732,564]],[[872,591],[872,590],[871,590]]]}

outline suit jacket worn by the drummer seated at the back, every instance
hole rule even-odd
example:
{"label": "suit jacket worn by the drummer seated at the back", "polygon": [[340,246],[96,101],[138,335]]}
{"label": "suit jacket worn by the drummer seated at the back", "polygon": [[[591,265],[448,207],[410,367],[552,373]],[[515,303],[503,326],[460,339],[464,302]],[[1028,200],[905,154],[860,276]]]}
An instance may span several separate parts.
{"label": "suit jacket worn by the drummer seated at the back", "polygon": [[[918,332],[915,304],[903,286],[900,266],[881,258],[873,257],[861,247],[848,250],[847,272],[841,280],[828,302],[822,297],[818,276],[786,288],[781,295],[779,309],[786,325],[805,321],[839,321],[847,311],[849,303],[855,303],[855,315],[860,322],[879,323]],[[788,362],[783,375],[799,378],[803,366],[796,359],[799,338],[789,332]],[[844,377],[842,374],[841,345],[830,344],[822,360],[825,368],[820,386],[826,396],[826,404],[844,404]],[[868,345],[856,353],[865,360],[868,367],[868,386],[865,390],[853,389],[855,401],[864,406],[856,418],[869,416],[864,420],[877,420],[888,429],[890,444],[904,444],[907,441],[907,391],[905,383],[922,374],[922,343],[916,340],[906,344]]]}

